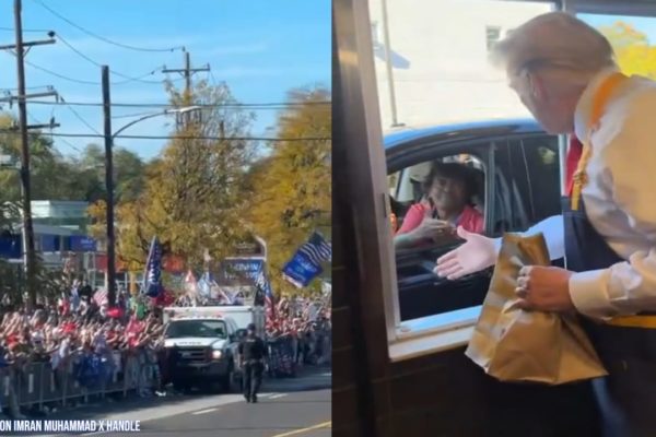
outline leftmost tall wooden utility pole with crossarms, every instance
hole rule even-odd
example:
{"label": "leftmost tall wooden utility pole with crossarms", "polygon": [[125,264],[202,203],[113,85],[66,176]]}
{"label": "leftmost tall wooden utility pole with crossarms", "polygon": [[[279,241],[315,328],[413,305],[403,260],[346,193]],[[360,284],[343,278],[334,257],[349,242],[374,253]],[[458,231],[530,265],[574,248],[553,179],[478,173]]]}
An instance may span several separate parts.
{"label": "leftmost tall wooden utility pole with crossarms", "polygon": [[[49,33],[50,39],[23,42],[23,22],[21,19],[23,4],[21,0],[14,0],[14,28],[16,42],[14,45],[0,46],[0,50],[15,49],[16,73],[17,73],[17,93],[15,99],[19,102],[19,129],[21,132],[21,191],[23,193],[23,267],[25,269],[25,279],[27,294],[30,296],[28,306],[36,306],[36,257],[34,253],[34,227],[32,224],[32,190],[30,186],[30,139],[27,137],[27,104],[25,95],[25,55],[34,46],[54,44],[54,33]],[[13,97],[12,97],[13,98]],[[10,99],[11,102],[11,99]],[[50,127],[56,127],[50,121]],[[34,128],[34,127],[33,127]]]}

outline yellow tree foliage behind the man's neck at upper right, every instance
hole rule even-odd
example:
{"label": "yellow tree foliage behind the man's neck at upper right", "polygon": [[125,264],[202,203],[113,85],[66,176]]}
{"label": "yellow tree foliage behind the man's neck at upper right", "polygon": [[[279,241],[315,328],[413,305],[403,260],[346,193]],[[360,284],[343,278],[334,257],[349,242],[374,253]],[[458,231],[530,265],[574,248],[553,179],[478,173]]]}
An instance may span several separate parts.
{"label": "yellow tree foliage behind the man's neck at upper right", "polygon": [[610,42],[622,72],[656,79],[656,46],[647,35],[622,21],[601,26],[599,32]]}

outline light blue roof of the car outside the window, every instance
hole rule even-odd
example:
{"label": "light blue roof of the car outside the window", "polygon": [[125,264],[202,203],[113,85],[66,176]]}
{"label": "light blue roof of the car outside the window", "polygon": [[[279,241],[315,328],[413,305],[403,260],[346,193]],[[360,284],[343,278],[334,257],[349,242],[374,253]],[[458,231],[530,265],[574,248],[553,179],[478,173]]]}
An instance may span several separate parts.
{"label": "light blue roof of the car outside the window", "polygon": [[472,121],[461,123],[436,125],[422,128],[402,128],[388,132],[385,135],[385,150],[389,151],[397,145],[414,142],[415,140],[432,141],[458,139],[477,139],[500,134],[538,133],[542,128],[534,119],[501,119],[487,121]]}

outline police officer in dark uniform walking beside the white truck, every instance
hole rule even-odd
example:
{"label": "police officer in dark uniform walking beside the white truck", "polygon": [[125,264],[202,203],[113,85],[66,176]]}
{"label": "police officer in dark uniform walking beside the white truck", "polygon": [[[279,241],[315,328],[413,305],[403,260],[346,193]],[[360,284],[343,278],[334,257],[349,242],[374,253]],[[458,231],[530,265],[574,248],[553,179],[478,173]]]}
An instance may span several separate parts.
{"label": "police officer in dark uniform walking beside the white truck", "polygon": [[239,365],[244,369],[244,398],[246,402],[257,402],[257,391],[262,382],[267,345],[256,335],[255,324],[247,328],[246,336],[239,343]]}

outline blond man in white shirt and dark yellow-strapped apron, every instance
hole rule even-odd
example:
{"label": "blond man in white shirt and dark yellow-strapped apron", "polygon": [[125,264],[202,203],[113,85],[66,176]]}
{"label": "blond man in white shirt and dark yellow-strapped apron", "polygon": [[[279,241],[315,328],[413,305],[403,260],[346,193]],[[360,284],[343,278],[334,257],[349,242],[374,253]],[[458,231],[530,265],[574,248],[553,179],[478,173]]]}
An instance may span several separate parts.
{"label": "blond man in white shirt and dark yellow-strapped apron", "polygon": [[[656,83],[621,74],[608,40],[561,12],[537,16],[493,49],[509,86],[544,130],[571,134],[575,163],[562,216],[537,224],[552,260],[528,267],[525,309],[583,315],[609,376],[593,381],[604,435],[656,433]],[[578,143],[581,146],[581,143]],[[437,260],[450,280],[492,265],[500,239],[461,228]]]}

